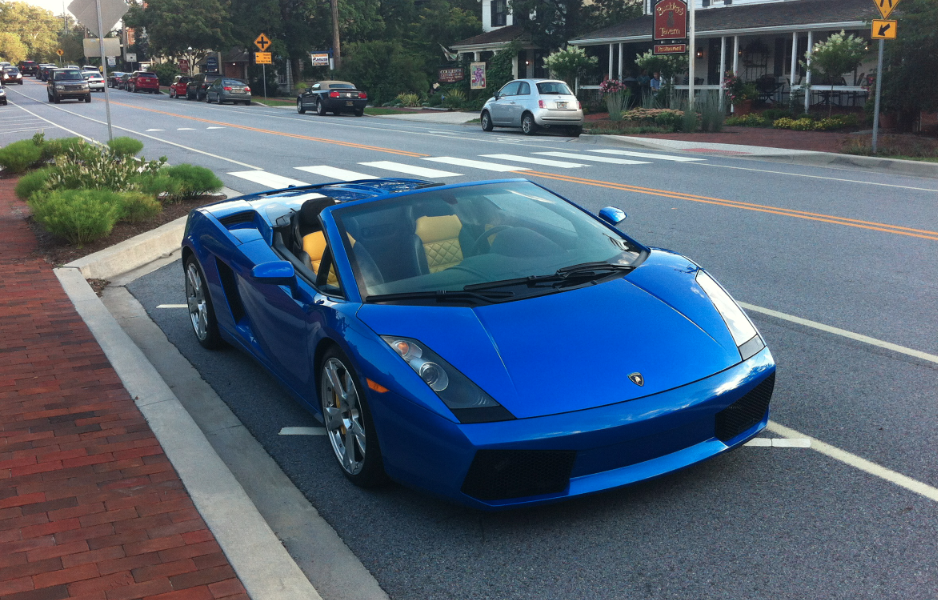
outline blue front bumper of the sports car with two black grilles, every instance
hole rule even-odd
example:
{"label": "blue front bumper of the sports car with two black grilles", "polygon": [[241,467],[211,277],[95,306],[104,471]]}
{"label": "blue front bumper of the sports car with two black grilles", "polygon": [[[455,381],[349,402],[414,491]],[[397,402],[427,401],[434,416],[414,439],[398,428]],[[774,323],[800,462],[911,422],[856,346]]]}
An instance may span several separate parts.
{"label": "blue front bumper of the sports car with two black grilles", "polygon": [[764,349],[726,371],[645,398],[474,425],[390,394],[371,405],[391,477],[497,510],[617,488],[736,448],[767,424],[774,373]]}

